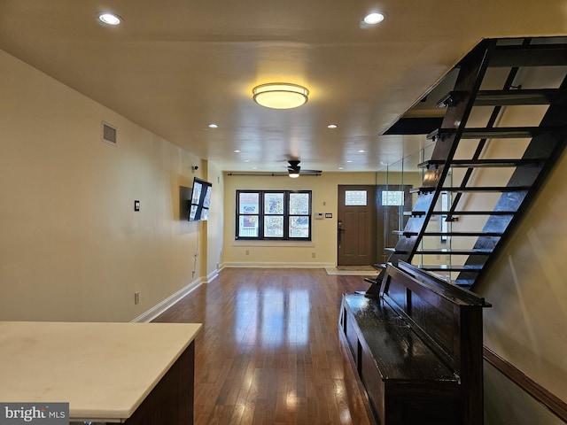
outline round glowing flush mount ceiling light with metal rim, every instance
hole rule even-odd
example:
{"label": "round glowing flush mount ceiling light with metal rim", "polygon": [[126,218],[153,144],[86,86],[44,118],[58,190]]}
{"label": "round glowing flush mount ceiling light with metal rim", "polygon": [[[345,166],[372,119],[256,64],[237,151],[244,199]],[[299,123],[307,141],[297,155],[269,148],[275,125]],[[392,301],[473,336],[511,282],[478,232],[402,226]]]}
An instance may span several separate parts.
{"label": "round glowing flush mount ceiling light with metal rim", "polygon": [[254,87],[252,95],[254,102],[267,108],[291,109],[307,102],[309,90],[298,84],[269,82]]}

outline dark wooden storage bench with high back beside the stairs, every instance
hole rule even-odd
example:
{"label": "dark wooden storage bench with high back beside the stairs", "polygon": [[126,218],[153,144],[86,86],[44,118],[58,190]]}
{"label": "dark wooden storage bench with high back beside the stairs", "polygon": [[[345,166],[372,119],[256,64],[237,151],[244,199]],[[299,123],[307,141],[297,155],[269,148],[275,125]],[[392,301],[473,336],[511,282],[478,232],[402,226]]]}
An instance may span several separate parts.
{"label": "dark wooden storage bench with high back beside the stairs", "polygon": [[482,424],[483,298],[400,263],[339,328],[381,425]]}

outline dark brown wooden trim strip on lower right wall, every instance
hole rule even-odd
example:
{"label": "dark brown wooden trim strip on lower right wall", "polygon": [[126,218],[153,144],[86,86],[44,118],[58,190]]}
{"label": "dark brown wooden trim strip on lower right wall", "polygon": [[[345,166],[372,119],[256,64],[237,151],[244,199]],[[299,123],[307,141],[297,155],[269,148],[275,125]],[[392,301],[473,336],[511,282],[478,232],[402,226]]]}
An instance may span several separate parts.
{"label": "dark brown wooden trim strip on lower right wall", "polygon": [[509,378],[510,381],[516,383],[518,387],[528,393],[532,398],[539,401],[543,406],[548,408],[549,412],[554,413],[563,422],[567,422],[567,403],[561,398],[543,388],[536,383],[524,372],[512,365],[508,360],[502,359],[498,354],[490,348],[484,347],[483,356],[485,360],[496,367],[502,375]]}

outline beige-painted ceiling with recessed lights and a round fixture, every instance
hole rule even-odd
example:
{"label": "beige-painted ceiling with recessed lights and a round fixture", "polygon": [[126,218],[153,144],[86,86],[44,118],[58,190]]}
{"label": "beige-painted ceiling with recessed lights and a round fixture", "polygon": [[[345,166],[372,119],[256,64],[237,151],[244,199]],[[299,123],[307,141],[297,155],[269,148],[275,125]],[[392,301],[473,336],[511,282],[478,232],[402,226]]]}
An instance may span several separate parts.
{"label": "beige-painted ceiling with recessed lights and a round fixture", "polygon": [[[567,35],[565,0],[0,0],[0,49],[226,171],[382,168],[428,142],[379,134],[481,39],[539,35]],[[309,101],[253,103],[270,81]]]}

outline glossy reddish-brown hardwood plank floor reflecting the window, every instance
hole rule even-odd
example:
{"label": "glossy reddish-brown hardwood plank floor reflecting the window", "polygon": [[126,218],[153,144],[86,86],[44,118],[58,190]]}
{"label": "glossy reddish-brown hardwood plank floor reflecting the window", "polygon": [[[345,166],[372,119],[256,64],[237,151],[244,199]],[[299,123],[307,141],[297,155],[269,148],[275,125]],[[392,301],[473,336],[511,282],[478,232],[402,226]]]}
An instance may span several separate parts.
{"label": "glossy reddish-brown hardwood plank floor reflecting the window", "polygon": [[201,322],[195,424],[371,424],[339,341],[342,294],[361,276],[228,268],[154,321]]}

